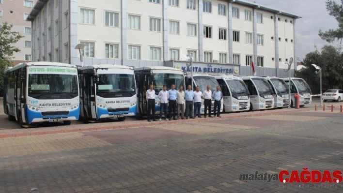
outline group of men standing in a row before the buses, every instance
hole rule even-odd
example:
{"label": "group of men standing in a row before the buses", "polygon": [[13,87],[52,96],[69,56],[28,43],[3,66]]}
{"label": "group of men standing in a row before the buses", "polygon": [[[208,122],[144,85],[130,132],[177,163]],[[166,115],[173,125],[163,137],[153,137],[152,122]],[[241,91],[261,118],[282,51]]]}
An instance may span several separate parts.
{"label": "group of men standing in a row before the buses", "polygon": [[[204,99],[204,118],[211,117],[211,105],[212,99],[214,99],[214,117],[220,117],[220,105],[221,99],[223,97],[220,87],[217,86],[217,90],[212,93],[210,86],[206,87],[206,90],[203,92],[200,91],[199,87],[196,87],[195,91],[192,90],[192,86],[188,85],[186,91],[183,90],[183,86],[179,87],[179,90],[175,89],[175,85],[172,84],[172,89],[167,90],[167,86],[163,85],[163,89],[159,91],[158,98],[160,99],[160,113],[159,113],[159,121],[162,120],[162,112],[164,111],[165,120],[172,120],[172,116],[174,120],[177,119],[195,119],[195,117],[202,118],[200,114],[202,98]],[[148,103],[148,121],[151,120],[151,113],[153,116],[153,120],[156,121],[155,118],[155,90],[154,85],[150,85],[150,89],[146,91],[146,100]],[[193,105],[194,103],[194,105]],[[169,105],[169,119],[167,118],[167,108]],[[194,114],[193,114],[193,107],[194,107]],[[179,113],[180,108],[181,116]],[[216,113],[217,112],[217,113]]]}

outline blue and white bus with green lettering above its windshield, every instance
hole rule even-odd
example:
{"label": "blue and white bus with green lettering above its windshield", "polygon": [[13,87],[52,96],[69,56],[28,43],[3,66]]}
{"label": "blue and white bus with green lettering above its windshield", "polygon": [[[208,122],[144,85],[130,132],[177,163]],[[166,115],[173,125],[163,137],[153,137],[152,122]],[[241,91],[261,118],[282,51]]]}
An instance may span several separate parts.
{"label": "blue and white bus with green lettering above its windshield", "polygon": [[22,128],[79,117],[77,67],[59,62],[19,63],[5,70],[4,112]]}

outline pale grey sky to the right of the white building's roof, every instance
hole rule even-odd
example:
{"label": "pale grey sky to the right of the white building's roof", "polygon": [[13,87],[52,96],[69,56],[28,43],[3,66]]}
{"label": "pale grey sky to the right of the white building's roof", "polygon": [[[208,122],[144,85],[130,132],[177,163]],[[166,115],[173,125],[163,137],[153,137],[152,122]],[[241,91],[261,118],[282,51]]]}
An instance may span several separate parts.
{"label": "pale grey sky to the right of the white building's roof", "polygon": [[[283,10],[302,18],[296,20],[296,55],[302,61],[306,54],[318,51],[328,43],[322,40],[319,30],[327,31],[337,29],[338,22],[333,16],[328,15],[326,0],[249,0],[278,10]],[[341,3],[340,0],[335,0]],[[339,45],[339,42],[332,43]]]}

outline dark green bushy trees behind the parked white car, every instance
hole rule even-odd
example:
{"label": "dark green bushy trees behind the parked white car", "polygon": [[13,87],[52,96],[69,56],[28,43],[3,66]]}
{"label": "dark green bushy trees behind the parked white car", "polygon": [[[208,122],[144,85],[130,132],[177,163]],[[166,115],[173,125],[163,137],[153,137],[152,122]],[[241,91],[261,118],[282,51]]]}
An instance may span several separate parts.
{"label": "dark green bushy trees behind the parked white car", "polygon": [[313,93],[320,93],[320,74],[315,74],[316,64],[322,68],[322,91],[327,89],[343,89],[343,55],[332,45],[325,45],[321,52],[313,51],[306,55],[302,65],[306,69],[297,71],[296,77],[306,80]]}

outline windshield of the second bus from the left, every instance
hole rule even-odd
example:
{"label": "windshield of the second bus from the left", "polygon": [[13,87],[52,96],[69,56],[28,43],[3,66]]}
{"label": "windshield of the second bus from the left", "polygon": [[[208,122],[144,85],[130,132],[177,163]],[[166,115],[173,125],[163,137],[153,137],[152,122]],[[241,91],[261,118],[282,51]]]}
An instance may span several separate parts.
{"label": "windshield of the second bus from the left", "polygon": [[134,74],[97,74],[97,94],[136,93]]}

